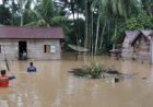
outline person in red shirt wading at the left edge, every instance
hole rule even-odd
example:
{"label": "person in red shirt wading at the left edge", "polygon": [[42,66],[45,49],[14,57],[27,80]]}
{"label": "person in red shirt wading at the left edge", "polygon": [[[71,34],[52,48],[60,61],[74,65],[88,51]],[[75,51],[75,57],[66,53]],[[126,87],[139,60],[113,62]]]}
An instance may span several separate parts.
{"label": "person in red shirt wading at the left edge", "polygon": [[9,86],[9,80],[14,79],[14,76],[8,76],[5,73],[7,73],[5,70],[1,70],[0,87],[8,87]]}

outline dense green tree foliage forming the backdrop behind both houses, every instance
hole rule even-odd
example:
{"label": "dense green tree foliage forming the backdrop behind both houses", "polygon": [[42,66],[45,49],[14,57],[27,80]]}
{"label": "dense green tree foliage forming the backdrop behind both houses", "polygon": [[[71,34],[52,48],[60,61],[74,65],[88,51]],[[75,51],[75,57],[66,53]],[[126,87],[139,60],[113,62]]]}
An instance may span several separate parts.
{"label": "dense green tree foliage forming the backdrop behind both houses", "polygon": [[[122,43],[122,33],[133,29],[153,29],[153,0],[64,0],[66,4],[61,8],[55,5],[52,0],[3,0],[0,5],[0,24],[3,25],[24,25],[31,26],[62,26],[66,35],[66,44],[83,46],[85,41],[85,21],[68,20],[62,13],[70,9],[72,12],[84,14],[85,1],[87,4],[87,40],[89,48],[95,41],[97,13],[101,11],[99,38],[97,51],[108,52],[113,44]],[[141,1],[141,2],[140,2]],[[32,9],[32,5],[34,9]],[[60,8],[60,10],[57,10]],[[92,12],[95,9],[94,13]],[[62,14],[61,14],[62,13]],[[93,14],[92,14],[93,13]],[[23,19],[21,19],[23,16]],[[106,20],[105,20],[106,19]],[[101,39],[104,22],[103,40]],[[93,23],[92,23],[93,22]],[[117,23],[116,23],[117,22]],[[117,28],[115,27],[117,25]],[[93,27],[92,27],[93,26]],[[93,31],[92,31],[93,29]],[[93,33],[93,34],[92,34]],[[94,36],[94,37],[93,37]],[[79,40],[81,39],[81,43]]]}

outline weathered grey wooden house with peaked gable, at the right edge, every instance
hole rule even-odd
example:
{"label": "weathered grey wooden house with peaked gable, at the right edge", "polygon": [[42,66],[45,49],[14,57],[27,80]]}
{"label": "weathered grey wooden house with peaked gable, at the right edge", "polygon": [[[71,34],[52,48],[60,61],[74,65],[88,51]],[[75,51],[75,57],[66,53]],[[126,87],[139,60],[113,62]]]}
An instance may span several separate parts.
{"label": "weathered grey wooden house with peaked gable, at the right edge", "polygon": [[122,44],[122,58],[146,60],[151,59],[151,31],[128,31]]}

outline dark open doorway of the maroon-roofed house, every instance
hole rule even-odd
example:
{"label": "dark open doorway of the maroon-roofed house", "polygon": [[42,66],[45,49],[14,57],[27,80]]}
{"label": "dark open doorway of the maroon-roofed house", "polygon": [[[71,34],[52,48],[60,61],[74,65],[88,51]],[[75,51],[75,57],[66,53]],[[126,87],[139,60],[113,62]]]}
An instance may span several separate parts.
{"label": "dark open doorway of the maroon-roofed house", "polygon": [[19,41],[19,59],[27,59],[27,45],[26,41]]}

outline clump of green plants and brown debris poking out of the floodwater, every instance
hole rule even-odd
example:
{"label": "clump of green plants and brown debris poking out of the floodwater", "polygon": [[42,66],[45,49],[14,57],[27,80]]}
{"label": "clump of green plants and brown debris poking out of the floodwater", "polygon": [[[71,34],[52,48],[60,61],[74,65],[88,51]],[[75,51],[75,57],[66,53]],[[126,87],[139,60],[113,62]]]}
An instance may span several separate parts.
{"label": "clump of green plants and brown debris poking out of the floodwater", "polygon": [[97,64],[94,62],[91,63],[90,66],[76,68],[69,72],[73,73],[76,76],[89,78],[89,79],[113,78],[115,82],[119,82],[122,79],[128,79],[133,75],[133,74],[123,74],[105,64]]}

